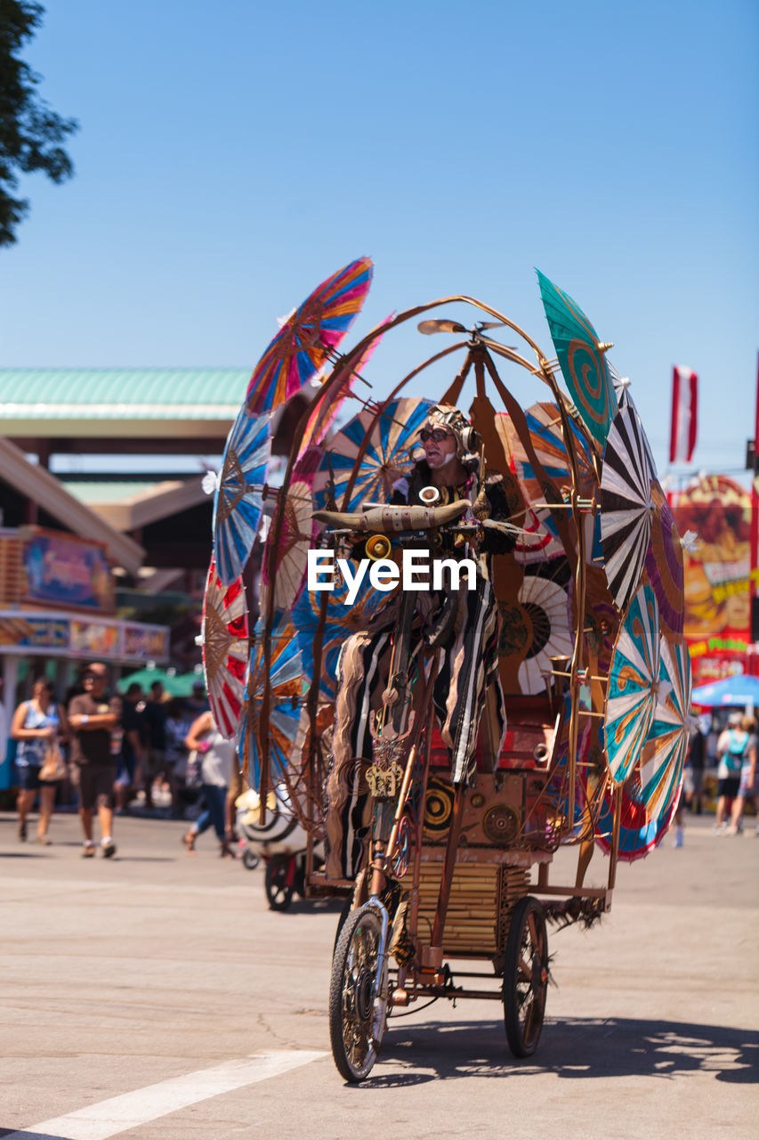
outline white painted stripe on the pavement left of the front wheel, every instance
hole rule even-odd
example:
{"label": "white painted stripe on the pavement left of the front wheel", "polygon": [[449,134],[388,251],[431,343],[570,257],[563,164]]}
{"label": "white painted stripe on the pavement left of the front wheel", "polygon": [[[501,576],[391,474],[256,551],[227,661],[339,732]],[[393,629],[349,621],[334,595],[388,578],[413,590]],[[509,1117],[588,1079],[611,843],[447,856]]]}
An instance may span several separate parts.
{"label": "white painted stripe on the pavement left of the front wheel", "polygon": [[108,1140],[119,1132],[149,1124],[160,1116],[168,1116],[179,1108],[196,1105],[210,1097],[223,1092],[232,1092],[256,1081],[268,1081],[271,1076],[287,1073],[289,1069],[309,1065],[311,1061],[326,1057],[326,1053],[297,1050],[280,1053],[253,1053],[242,1060],[225,1061],[210,1069],[187,1073],[185,1076],[171,1077],[158,1084],[148,1084],[145,1089],[125,1092],[121,1097],[101,1100],[88,1108],[79,1108],[75,1113],[56,1116],[51,1121],[30,1124],[19,1132],[11,1132],[3,1140]]}

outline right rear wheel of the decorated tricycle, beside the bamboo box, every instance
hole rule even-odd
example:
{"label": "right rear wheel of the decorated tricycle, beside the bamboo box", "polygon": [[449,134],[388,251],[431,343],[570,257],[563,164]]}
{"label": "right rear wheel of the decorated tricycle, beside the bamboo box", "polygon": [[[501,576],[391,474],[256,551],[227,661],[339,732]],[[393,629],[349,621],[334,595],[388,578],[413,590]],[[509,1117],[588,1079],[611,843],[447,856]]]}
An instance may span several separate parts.
{"label": "right rear wheel of the decorated tricycle, beside the bamboo box", "polygon": [[515,1057],[538,1048],[548,988],[546,917],[537,898],[521,898],[512,913],[504,969],[504,1021]]}

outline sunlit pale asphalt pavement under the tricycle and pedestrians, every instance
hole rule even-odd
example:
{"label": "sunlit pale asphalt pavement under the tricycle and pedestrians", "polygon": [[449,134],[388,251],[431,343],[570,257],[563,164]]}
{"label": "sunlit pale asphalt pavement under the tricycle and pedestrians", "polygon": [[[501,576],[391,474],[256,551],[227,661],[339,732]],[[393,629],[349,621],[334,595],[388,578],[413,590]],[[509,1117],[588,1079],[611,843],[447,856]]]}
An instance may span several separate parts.
{"label": "sunlit pale asphalt pavement under the tricycle and pedestrians", "polygon": [[[753,826],[689,819],[682,849],[620,868],[601,927],[549,930],[558,988],[530,1060],[499,1003],[438,1002],[391,1018],[351,1088],[326,1018],[338,905],[272,913],[262,870],[210,833],[193,857],[180,823],[116,822],[116,857],[83,861],[75,816],[43,848],[0,815],[0,1137],[757,1134]],[[597,853],[589,881],[605,872]]]}

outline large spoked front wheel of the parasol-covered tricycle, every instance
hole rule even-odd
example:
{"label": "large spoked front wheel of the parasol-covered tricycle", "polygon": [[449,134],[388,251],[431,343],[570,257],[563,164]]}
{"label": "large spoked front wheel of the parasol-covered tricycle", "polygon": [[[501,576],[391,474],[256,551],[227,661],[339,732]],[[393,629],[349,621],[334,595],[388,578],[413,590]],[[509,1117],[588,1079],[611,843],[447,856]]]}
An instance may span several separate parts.
{"label": "large spoked front wheel of the parasol-covered tricycle", "polygon": [[[385,1032],[387,964],[379,962],[382,920],[373,910],[349,914],[337,939],[329,985],[329,1040],[341,1075],[357,1084],[369,1075]],[[377,971],[382,967],[378,993]]]}

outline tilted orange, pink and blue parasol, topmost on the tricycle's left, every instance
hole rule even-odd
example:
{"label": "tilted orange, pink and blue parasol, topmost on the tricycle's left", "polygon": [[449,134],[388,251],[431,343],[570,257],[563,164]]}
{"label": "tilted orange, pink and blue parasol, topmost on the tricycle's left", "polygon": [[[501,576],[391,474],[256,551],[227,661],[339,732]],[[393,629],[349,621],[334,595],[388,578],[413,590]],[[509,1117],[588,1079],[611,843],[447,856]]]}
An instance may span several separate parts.
{"label": "tilted orange, pink and blue parasol, topmost on the tricycle's left", "polygon": [[372,261],[359,258],[323,282],[285,321],[251,376],[250,413],[269,412],[299,392],[324,367],[369,292]]}

